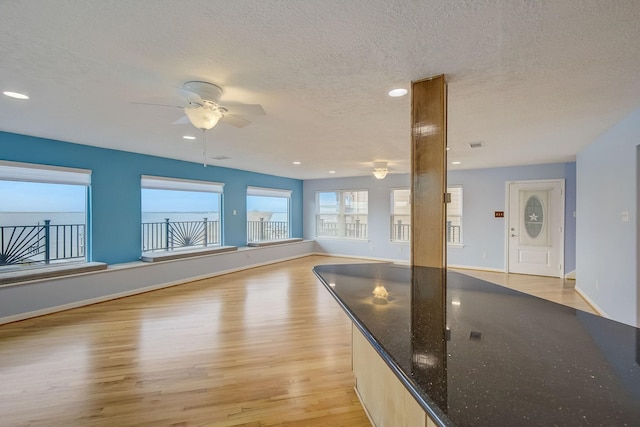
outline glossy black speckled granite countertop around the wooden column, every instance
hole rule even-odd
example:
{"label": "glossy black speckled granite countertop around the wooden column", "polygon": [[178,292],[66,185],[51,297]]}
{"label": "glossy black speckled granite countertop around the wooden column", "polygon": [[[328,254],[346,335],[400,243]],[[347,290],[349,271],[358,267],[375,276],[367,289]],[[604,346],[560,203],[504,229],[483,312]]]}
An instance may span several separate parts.
{"label": "glossy black speckled granite countertop around the wooden column", "polygon": [[441,269],[314,272],[442,426],[640,426],[640,329]]}

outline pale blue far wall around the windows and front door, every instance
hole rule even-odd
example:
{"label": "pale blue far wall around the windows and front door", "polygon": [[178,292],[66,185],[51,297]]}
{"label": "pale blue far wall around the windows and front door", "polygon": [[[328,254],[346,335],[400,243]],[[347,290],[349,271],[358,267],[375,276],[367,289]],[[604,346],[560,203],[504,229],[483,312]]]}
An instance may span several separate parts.
{"label": "pale blue far wall around the windows and front door", "polygon": [[[487,269],[505,269],[505,219],[495,218],[494,211],[505,211],[505,183],[514,180],[565,179],[565,272],[575,269],[576,227],[575,163],[474,169],[448,172],[449,185],[463,186],[463,247],[449,247],[451,265]],[[390,192],[408,188],[410,176],[307,180],[304,182],[304,237],[315,238],[315,193],[317,191],[369,190],[369,239],[318,239],[327,253],[409,261],[410,245],[390,242]],[[486,257],[484,256],[486,254]]]}

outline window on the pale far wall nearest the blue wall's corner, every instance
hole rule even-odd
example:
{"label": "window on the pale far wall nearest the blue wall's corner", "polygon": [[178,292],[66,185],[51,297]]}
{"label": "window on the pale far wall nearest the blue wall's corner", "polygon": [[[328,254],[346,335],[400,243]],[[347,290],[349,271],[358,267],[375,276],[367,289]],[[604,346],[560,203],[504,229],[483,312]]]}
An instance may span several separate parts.
{"label": "window on the pale far wall nearest the blue wall's corner", "polygon": [[364,190],[316,193],[316,236],[367,238],[369,193]]}

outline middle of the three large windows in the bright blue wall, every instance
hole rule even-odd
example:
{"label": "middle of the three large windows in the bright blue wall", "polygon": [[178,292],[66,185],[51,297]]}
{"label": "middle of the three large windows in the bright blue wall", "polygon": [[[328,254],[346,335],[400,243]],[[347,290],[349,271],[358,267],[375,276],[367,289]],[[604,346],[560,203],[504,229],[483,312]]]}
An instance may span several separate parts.
{"label": "middle of the three large windows in the bright blue wall", "polygon": [[220,245],[223,186],[143,175],[142,251]]}

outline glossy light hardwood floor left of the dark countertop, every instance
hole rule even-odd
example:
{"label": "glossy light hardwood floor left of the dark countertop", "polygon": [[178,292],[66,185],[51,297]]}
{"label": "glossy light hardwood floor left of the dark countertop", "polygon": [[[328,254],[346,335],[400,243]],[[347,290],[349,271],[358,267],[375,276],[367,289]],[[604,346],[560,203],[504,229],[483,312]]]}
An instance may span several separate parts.
{"label": "glossy light hardwood floor left of the dark countertop", "polygon": [[369,426],[350,321],[311,272],[353,262],[306,257],[0,326],[0,425]]}

